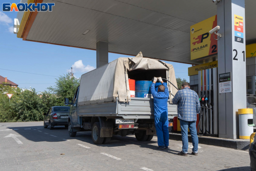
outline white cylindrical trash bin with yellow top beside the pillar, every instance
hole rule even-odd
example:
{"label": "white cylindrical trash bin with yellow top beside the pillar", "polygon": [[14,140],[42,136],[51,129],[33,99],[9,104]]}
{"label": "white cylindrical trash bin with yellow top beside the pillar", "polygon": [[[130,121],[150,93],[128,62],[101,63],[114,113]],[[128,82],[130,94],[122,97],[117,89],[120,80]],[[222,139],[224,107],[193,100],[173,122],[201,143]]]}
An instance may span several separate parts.
{"label": "white cylindrical trash bin with yellow top beside the pillar", "polygon": [[253,110],[252,109],[238,109],[239,115],[239,138],[250,139],[253,133]]}

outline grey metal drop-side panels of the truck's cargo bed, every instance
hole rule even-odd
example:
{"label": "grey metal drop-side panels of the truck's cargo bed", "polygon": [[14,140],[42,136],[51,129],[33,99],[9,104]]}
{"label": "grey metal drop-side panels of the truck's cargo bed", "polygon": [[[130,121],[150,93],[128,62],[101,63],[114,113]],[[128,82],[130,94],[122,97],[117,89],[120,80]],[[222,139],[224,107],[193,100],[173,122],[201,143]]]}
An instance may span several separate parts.
{"label": "grey metal drop-side panels of the truck's cargo bed", "polygon": [[[131,98],[131,102],[92,104],[78,107],[78,116],[119,116],[124,119],[153,119],[154,104],[150,98]],[[168,118],[177,116],[177,106],[167,103]]]}

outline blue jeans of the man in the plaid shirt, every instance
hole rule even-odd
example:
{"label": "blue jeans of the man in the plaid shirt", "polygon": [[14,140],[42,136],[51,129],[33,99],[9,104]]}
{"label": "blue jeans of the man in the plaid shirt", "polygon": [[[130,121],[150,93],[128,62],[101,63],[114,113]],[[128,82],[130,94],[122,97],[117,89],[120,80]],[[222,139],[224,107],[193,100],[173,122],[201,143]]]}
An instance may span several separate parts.
{"label": "blue jeans of the man in the plaid shirt", "polygon": [[192,151],[197,153],[198,151],[198,136],[196,131],[196,121],[184,121],[180,119],[181,128],[181,139],[182,139],[182,150],[183,153],[188,153],[189,139],[188,139],[188,128],[192,137]]}

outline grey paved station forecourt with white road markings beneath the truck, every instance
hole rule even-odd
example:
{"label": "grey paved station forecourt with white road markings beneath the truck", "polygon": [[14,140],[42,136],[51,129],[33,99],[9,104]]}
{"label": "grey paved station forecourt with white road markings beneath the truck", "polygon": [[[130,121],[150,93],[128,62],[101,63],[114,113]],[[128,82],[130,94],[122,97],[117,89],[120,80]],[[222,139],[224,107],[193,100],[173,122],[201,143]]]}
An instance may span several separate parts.
{"label": "grey paved station forecourt with white road markings beneath the truck", "polygon": [[[182,142],[157,150],[157,137],[139,142],[135,136],[114,136],[110,144],[95,145],[91,132],[69,137],[64,126],[53,130],[43,122],[0,123],[0,170],[250,170],[248,150],[199,144],[198,156],[178,156]],[[189,143],[189,153],[192,144]]]}

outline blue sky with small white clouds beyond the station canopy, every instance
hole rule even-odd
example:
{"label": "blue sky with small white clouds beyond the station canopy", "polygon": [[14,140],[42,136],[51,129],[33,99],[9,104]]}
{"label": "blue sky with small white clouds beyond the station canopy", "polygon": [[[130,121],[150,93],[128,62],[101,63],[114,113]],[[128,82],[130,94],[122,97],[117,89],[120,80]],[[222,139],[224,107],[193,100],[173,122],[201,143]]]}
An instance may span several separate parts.
{"label": "blue sky with small white clouds beyond the station canopy", "polygon": [[[10,1],[9,1],[10,2]],[[19,3],[20,0],[10,3]],[[1,4],[2,7],[2,4]],[[47,90],[47,87],[54,86],[55,78],[59,75],[74,69],[74,75],[80,77],[96,68],[96,51],[71,48],[66,46],[51,45],[23,41],[13,33],[13,21],[17,12],[3,12],[0,9],[0,75],[18,84],[18,87],[35,88],[37,91]],[[95,42],[96,43],[96,42]],[[143,54],[143,52],[142,52]],[[109,53],[109,62],[126,55]],[[130,57],[130,56],[129,56]],[[188,67],[191,65],[167,62],[173,65],[176,78],[186,78],[189,80]],[[27,74],[23,71],[51,76]],[[57,76],[57,77],[52,77]]]}

